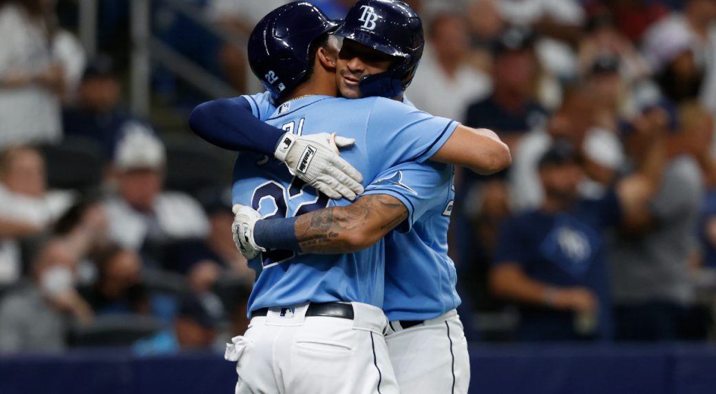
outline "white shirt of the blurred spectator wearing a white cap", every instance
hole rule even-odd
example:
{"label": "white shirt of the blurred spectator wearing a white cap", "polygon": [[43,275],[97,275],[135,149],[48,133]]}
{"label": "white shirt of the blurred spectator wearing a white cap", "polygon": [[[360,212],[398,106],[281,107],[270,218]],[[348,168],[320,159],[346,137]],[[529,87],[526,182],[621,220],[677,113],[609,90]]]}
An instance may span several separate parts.
{"label": "white shirt of the blurred spectator wearing a white cap", "polygon": [[156,221],[169,239],[203,239],[209,232],[209,221],[193,198],[176,192],[163,192],[154,199],[154,217],[135,210],[121,198],[105,204],[110,218],[110,239],[127,249],[139,250]]}

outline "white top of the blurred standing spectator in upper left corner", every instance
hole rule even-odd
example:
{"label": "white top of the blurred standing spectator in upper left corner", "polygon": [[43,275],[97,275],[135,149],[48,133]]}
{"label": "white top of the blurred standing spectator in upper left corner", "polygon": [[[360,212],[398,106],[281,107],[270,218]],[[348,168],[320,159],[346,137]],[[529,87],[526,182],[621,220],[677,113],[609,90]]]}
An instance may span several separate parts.
{"label": "white top of the blurred standing spectator in upper left corner", "polygon": [[[0,9],[0,75],[36,73],[52,63],[45,29],[14,4]],[[0,148],[62,137],[59,97],[37,85],[0,88]]]}

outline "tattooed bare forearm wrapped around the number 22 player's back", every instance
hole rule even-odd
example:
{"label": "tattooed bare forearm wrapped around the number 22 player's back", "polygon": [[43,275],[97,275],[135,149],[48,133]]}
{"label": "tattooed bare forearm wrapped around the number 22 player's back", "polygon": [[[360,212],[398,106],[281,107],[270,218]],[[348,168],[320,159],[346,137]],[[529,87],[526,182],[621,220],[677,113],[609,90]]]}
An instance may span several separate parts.
{"label": "tattooed bare forearm wrapped around the number 22 player's back", "polygon": [[334,206],[299,216],[296,237],[307,253],[351,253],[371,246],[407,218],[407,208],[384,194],[363,196],[349,206]]}

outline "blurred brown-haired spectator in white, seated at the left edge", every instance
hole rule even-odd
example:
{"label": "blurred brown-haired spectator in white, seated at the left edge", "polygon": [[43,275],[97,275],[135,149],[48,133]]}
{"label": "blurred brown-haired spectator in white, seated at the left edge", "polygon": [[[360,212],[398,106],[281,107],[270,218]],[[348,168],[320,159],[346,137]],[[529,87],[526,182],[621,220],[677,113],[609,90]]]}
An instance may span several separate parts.
{"label": "blurred brown-haired spectator in white, seated at the left edge", "polygon": [[44,160],[34,148],[0,155],[0,283],[21,273],[18,239],[42,233],[72,204],[72,193],[47,191]]}

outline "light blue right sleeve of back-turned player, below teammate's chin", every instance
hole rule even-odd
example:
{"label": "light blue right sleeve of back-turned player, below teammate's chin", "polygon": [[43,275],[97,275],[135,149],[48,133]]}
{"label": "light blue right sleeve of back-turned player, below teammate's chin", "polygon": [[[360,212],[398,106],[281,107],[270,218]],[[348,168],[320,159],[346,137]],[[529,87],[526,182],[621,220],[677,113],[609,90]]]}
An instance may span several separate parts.
{"label": "light blue right sleeve of back-turned player, below teammate's chin", "polygon": [[375,100],[367,123],[369,148],[384,152],[392,163],[422,163],[445,145],[459,122],[437,117],[395,100]]}

